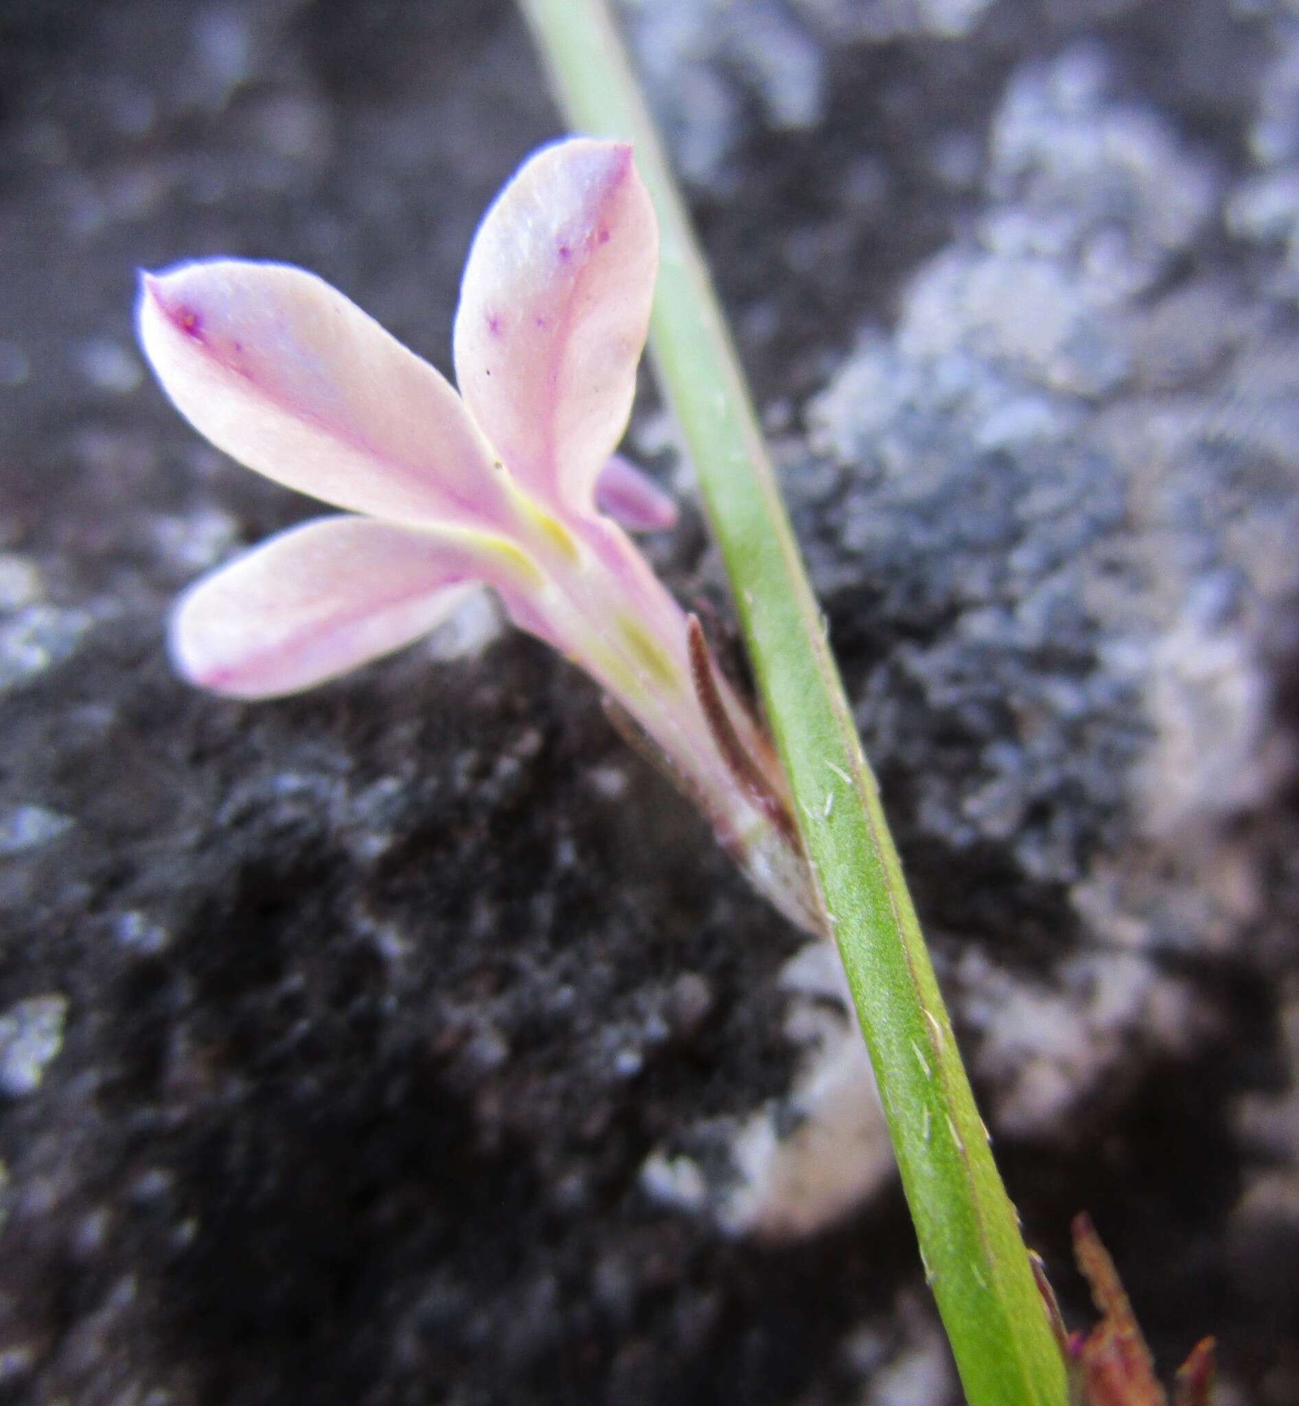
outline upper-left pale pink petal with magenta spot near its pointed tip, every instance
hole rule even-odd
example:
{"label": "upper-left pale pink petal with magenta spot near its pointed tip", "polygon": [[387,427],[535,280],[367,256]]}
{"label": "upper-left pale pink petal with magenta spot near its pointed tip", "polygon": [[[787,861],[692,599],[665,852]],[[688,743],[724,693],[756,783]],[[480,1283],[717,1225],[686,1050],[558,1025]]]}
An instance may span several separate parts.
{"label": "upper-left pale pink petal with magenta spot near its pointed tip", "polygon": [[496,520],[493,456],[453,387],[315,274],[145,274],[139,339],[181,415],[249,468],[381,517]]}

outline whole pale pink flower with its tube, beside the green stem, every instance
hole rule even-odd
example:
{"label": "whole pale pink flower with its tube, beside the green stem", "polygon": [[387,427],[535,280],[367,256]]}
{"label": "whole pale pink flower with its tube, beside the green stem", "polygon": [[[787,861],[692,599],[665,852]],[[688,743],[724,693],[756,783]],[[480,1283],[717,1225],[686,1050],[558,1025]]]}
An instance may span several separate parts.
{"label": "whole pale pink flower with its tube, beside the green stem", "polygon": [[409,644],[486,583],[600,685],[754,883],[814,927],[770,744],[614,522],[675,519],[613,454],[657,264],[631,149],[543,148],[474,239],[458,395],[299,269],[212,260],[146,274],[139,337],[177,409],[249,468],[346,510],[191,586],[172,655],[204,688],[292,693]]}

